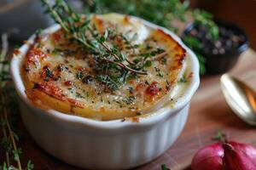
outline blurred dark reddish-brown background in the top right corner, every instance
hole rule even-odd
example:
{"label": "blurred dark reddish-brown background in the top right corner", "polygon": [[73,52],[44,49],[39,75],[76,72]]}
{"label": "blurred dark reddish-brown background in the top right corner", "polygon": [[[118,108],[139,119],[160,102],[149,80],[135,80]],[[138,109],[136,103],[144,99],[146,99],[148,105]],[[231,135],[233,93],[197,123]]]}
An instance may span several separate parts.
{"label": "blurred dark reddish-brown background in the top right corner", "polygon": [[256,49],[256,1],[255,0],[195,0],[193,7],[204,8],[220,20],[241,26]]}

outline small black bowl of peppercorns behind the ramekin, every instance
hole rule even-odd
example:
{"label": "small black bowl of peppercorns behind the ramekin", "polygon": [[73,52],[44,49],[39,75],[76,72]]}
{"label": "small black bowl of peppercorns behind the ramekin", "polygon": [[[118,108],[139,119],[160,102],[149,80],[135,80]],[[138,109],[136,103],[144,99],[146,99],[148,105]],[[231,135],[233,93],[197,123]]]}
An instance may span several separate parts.
{"label": "small black bowl of peppercorns behind the ramekin", "polygon": [[[207,74],[219,74],[229,71],[232,67],[236,65],[239,56],[248,48],[249,45],[247,34],[239,26],[222,21],[216,21],[216,23],[219,29],[222,28],[224,31],[230,31],[234,35],[241,36],[243,38],[242,41],[240,41],[239,44],[236,45],[236,48],[230,47],[229,49],[222,51],[222,54],[214,54],[214,49],[212,49],[213,52],[212,50],[209,50],[207,48],[203,48],[203,50],[200,51],[193,49],[196,53],[201,54],[203,57],[205,57]],[[189,26],[187,26],[186,29],[183,31],[183,37],[190,35],[191,31],[196,29],[196,26],[198,25],[196,25],[195,23],[189,24]],[[219,36],[219,39],[221,38],[223,37]],[[206,45],[208,43],[204,42],[202,39],[199,39],[199,41],[203,42],[203,45]]]}

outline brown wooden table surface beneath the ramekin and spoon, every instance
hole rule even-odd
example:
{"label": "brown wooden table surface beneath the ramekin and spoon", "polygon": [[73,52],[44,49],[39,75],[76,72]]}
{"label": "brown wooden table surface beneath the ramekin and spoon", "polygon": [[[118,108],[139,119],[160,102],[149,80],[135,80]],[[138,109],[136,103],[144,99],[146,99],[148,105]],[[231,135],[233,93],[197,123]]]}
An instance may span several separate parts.
{"label": "brown wooden table surface beneath the ramekin and spoon", "polygon": [[[230,73],[243,81],[246,81],[256,90],[256,53],[248,49],[242,54],[241,59]],[[256,128],[248,126],[232,112],[221,94],[217,76],[201,77],[201,86],[196,92],[189,110],[189,118],[182,134],[160,157],[148,162],[137,170],[160,170],[160,165],[165,163],[172,170],[190,169],[189,164],[195,151],[205,144],[212,144],[212,136],[222,130],[228,138],[256,146]],[[26,132],[22,122],[20,131],[23,138],[20,139],[20,147],[23,150],[21,161],[31,159],[34,169],[61,170],[78,169],[58,161],[41,150]],[[0,150],[1,151],[1,150]],[[0,152],[0,162],[3,162],[3,153]]]}

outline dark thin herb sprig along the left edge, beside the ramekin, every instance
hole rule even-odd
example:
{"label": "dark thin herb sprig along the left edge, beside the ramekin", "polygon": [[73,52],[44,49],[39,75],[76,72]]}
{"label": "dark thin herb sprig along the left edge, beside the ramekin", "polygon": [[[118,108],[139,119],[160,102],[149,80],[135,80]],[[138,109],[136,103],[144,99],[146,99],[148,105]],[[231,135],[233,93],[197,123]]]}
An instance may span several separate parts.
{"label": "dark thin herb sprig along the left edge, beside the ramekin", "polygon": [[[10,101],[6,99],[7,96],[10,97],[9,81],[11,80],[9,77],[9,60],[7,59],[8,50],[8,33],[3,33],[2,52],[0,54],[0,127],[3,131],[1,146],[5,151],[6,160],[3,161],[3,165],[0,165],[0,170],[31,170],[33,168],[32,161],[27,162],[26,168],[21,167],[21,149],[16,144],[19,141],[19,137],[10,122],[11,118],[14,117],[10,117],[8,105],[10,103],[14,106],[15,102],[12,99],[9,99]],[[14,162],[16,166],[13,164]]]}

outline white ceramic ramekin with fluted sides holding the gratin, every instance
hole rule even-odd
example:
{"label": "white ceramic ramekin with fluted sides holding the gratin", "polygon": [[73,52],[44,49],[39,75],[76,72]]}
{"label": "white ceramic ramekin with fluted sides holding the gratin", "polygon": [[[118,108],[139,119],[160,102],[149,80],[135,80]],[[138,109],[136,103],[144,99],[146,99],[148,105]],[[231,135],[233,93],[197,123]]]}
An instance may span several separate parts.
{"label": "white ceramic ramekin with fluted sides holding the gratin", "polygon": [[[132,19],[141,20],[137,17]],[[166,31],[187,50],[189,69],[194,76],[183,96],[177,99],[174,109],[163,107],[140,122],[98,122],[59,111],[38,109],[27,99],[20,76],[22,59],[29,46],[24,44],[20,54],[14,56],[11,73],[20,99],[23,122],[32,139],[50,155],[76,167],[125,169],[137,167],[160,156],[177,139],[187,120],[190,99],[199,86],[198,61],[195,54],[172,31],[141,21],[146,26]],[[51,26],[45,31],[54,31],[58,27]],[[33,42],[33,38],[28,42]]]}

